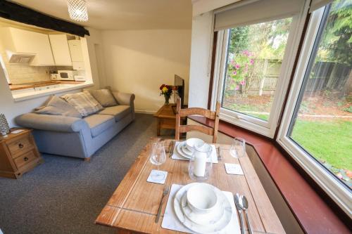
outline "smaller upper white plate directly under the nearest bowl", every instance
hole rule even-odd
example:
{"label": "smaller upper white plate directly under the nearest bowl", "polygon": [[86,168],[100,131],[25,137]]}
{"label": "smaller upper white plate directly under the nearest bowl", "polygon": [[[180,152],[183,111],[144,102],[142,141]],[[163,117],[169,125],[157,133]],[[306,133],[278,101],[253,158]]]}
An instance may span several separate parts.
{"label": "smaller upper white plate directly under the nearest bowl", "polygon": [[[220,198],[218,197],[218,199]],[[209,224],[216,223],[224,215],[224,207],[222,206],[221,203],[218,203],[215,209],[210,213],[206,213],[206,214],[194,213],[191,210],[191,208],[187,205],[187,193],[184,193],[182,197],[181,208],[183,213],[187,216],[188,219],[190,219],[192,222],[197,223],[199,225],[209,225]]]}

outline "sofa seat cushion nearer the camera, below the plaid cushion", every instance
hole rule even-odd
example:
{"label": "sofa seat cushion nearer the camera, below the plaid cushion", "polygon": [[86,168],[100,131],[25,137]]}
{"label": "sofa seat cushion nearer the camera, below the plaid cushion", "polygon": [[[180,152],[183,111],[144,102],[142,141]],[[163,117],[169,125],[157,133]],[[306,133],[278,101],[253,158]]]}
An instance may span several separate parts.
{"label": "sofa seat cushion nearer the camera, below the plaid cushion", "polygon": [[112,115],[89,115],[84,120],[89,126],[92,137],[98,136],[115,124],[115,119]]}

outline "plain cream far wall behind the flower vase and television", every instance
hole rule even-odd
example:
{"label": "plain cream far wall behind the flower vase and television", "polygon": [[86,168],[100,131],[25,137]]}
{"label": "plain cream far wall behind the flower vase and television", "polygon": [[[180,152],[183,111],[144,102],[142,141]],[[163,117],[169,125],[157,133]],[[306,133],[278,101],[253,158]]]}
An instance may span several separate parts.
{"label": "plain cream far wall behind the flower vase and television", "polygon": [[191,30],[107,30],[101,38],[106,85],[134,93],[138,112],[163,105],[159,86],[173,84],[175,74],[185,79],[187,100]]}

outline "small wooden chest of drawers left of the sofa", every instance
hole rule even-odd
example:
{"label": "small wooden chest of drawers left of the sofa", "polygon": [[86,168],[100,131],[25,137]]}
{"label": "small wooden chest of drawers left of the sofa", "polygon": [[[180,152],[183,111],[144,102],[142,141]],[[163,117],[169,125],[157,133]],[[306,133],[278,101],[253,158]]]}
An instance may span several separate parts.
{"label": "small wooden chest of drawers left of the sofa", "polygon": [[[15,131],[17,129],[11,129]],[[32,130],[0,136],[0,176],[19,178],[43,161],[35,145]]]}

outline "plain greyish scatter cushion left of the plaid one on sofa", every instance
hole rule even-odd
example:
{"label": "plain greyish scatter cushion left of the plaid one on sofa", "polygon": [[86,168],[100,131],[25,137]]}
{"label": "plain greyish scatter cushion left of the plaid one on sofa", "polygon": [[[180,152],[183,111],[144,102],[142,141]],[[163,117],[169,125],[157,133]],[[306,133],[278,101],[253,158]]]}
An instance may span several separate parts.
{"label": "plain greyish scatter cushion left of the plaid one on sofa", "polygon": [[72,105],[54,95],[49,98],[44,106],[36,108],[34,112],[41,115],[63,115],[82,118],[80,112],[78,112]]}

